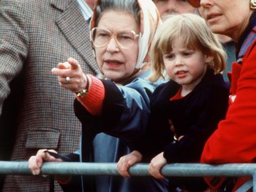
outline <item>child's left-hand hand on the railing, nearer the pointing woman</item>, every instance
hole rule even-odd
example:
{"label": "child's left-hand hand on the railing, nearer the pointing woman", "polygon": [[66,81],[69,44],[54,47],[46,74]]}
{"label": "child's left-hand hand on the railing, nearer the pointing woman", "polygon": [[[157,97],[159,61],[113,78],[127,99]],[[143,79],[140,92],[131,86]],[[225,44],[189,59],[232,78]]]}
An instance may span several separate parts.
{"label": "child's left-hand hand on the railing, nearer the pointing woman", "polygon": [[138,151],[122,156],[117,163],[118,172],[124,177],[131,177],[128,172],[129,167],[142,161],[142,155]]}

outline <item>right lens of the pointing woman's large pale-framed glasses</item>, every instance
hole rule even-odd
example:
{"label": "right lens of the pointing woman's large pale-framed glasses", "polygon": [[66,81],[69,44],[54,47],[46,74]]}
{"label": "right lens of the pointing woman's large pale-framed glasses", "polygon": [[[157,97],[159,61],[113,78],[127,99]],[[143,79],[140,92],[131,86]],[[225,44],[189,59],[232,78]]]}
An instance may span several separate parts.
{"label": "right lens of the pointing woman's large pale-framed glasses", "polygon": [[135,33],[133,31],[118,32],[116,40],[122,48],[131,48],[135,42]]}

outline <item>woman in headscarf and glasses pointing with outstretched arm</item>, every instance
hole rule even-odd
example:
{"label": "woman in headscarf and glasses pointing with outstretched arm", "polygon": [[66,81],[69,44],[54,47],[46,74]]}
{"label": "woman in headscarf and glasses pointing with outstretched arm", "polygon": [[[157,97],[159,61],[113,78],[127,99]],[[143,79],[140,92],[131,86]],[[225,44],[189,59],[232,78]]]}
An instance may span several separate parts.
{"label": "woman in headscarf and glasses pointing with outstretched arm", "polygon": [[[78,61],[72,58],[52,69],[61,87],[76,94],[74,110],[83,127],[81,155],[72,153],[65,156],[65,160],[117,162],[120,156],[130,152],[129,143],[144,133],[149,117],[149,95],[155,85],[143,78],[149,73],[147,52],[159,22],[152,1],[96,1],[91,40],[101,80],[83,74]],[[116,111],[119,115],[112,116]],[[54,153],[39,150],[30,158],[29,167],[37,175],[43,161],[58,160]],[[96,185],[92,183],[92,178],[83,176],[81,186],[89,191],[166,191],[165,181],[149,177],[96,176]],[[62,186],[73,189],[70,184]]]}

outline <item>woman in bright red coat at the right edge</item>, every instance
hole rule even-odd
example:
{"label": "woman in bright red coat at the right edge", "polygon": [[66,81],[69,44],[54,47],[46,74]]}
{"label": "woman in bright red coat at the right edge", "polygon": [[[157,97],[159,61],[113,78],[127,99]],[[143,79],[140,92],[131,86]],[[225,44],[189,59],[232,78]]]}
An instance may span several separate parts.
{"label": "woman in bright red coat at the right edge", "polygon": [[[226,120],[219,123],[204,147],[201,161],[209,164],[252,163],[256,159],[256,1],[189,0],[209,28],[237,43],[232,64],[231,95]],[[219,187],[213,178],[209,182]],[[244,178],[235,184],[237,189]]]}

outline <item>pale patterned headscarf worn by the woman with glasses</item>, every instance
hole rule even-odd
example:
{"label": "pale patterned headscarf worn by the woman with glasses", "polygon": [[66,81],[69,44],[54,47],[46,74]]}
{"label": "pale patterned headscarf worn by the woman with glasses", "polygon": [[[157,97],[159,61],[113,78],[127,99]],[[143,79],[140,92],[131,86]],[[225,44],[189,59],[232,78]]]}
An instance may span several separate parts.
{"label": "pale patterned headscarf worn by the woman with glasses", "polygon": [[[120,0],[124,1],[124,0]],[[140,6],[140,37],[138,39],[138,58],[135,68],[142,69],[149,61],[149,49],[155,35],[156,27],[161,23],[155,3],[151,0],[137,0]],[[91,29],[96,25],[96,6],[100,0],[95,1],[91,19]]]}

